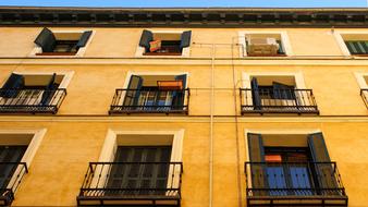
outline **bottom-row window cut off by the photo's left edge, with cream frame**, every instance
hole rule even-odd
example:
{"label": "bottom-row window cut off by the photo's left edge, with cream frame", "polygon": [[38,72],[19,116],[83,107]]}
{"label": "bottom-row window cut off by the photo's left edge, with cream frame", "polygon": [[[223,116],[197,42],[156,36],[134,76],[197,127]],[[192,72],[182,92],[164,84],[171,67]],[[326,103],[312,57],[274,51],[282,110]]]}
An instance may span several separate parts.
{"label": "bottom-row window cut off by the photo's left edge, with cream frame", "polygon": [[0,131],[0,205],[11,206],[46,130]]}

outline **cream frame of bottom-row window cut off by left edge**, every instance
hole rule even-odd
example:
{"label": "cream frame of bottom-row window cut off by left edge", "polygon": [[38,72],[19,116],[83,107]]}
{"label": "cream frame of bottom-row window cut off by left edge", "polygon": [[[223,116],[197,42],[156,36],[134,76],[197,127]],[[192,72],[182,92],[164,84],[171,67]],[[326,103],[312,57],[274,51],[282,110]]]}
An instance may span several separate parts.
{"label": "cream frame of bottom-row window cut off by left edge", "polygon": [[[33,137],[30,139],[30,142],[27,145],[27,149],[25,150],[21,162],[25,162],[27,166],[27,169],[29,169],[32,161],[34,160],[34,157],[36,155],[36,151],[38,150],[44,136],[47,132],[47,129],[35,129],[35,130],[0,130],[0,134],[24,134],[24,135],[28,135],[28,134],[33,134]],[[16,176],[19,173],[21,173],[22,171],[24,171],[23,166],[19,166],[9,184],[8,184],[8,188],[11,188],[12,185],[14,185],[15,182],[19,181],[19,178]],[[19,188],[19,187],[17,187]],[[16,188],[16,190],[17,190]],[[14,192],[15,193],[15,192]]]}

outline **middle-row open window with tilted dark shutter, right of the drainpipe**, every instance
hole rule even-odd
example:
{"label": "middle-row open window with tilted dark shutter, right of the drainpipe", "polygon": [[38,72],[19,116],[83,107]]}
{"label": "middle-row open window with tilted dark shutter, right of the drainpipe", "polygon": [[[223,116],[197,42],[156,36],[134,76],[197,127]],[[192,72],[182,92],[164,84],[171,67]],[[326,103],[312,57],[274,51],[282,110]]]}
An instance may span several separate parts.
{"label": "middle-row open window with tilted dark shutter, right of the drainpipe", "polygon": [[243,113],[318,113],[311,89],[297,88],[295,76],[252,76],[241,90]]}

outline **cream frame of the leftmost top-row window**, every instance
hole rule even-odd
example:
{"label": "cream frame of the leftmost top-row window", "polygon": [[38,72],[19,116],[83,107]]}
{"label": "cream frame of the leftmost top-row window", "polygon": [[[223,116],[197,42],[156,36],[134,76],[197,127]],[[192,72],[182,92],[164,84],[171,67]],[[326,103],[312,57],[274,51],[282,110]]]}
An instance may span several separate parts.
{"label": "cream frame of the leftmost top-row window", "polygon": [[70,33],[73,33],[73,34],[83,34],[84,32],[87,32],[87,31],[91,31],[93,33],[90,34],[89,36],[89,39],[88,41],[86,42],[86,45],[84,47],[81,47],[78,49],[78,51],[74,54],[74,56],[36,56],[36,53],[41,53],[42,52],[42,48],[37,46],[35,44],[35,47],[34,49],[30,51],[29,53],[29,57],[37,57],[37,58],[78,58],[78,57],[83,57],[87,50],[87,47],[90,45],[91,42],[91,39],[94,38],[95,34],[96,34],[96,31],[93,31],[93,29],[78,29],[78,31],[54,31],[54,29],[51,29],[53,34],[70,34]]}

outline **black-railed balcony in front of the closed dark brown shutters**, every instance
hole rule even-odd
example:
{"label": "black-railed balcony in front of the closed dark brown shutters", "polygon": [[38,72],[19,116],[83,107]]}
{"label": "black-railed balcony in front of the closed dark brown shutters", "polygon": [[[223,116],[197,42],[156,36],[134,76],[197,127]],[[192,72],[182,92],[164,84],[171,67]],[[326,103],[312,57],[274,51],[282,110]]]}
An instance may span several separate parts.
{"label": "black-railed balcony in front of the closed dark brown shutters", "polygon": [[77,205],[179,207],[182,172],[182,162],[90,162]]}

